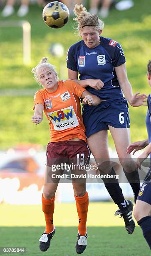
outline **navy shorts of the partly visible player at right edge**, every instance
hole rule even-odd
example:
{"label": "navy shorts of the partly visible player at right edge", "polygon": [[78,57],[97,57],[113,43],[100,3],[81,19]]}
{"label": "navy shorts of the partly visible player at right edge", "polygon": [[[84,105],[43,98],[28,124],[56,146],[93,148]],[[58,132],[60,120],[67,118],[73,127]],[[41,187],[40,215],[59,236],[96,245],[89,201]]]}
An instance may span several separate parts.
{"label": "navy shorts of the partly visible player at right edge", "polygon": [[144,201],[151,205],[151,167],[147,173],[144,182],[139,190],[138,200]]}

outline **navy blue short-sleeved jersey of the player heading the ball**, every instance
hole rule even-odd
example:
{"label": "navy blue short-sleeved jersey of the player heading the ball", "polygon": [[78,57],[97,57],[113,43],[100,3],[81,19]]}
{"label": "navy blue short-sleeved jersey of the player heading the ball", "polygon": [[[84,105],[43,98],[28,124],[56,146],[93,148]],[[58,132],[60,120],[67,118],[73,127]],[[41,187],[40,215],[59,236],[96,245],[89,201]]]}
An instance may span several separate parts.
{"label": "navy blue short-sleeved jersey of the player heading the ball", "polygon": [[67,67],[79,73],[79,79],[101,79],[104,87],[95,90],[87,87],[89,92],[101,99],[116,100],[123,98],[119,86],[115,67],[125,63],[123,49],[119,43],[109,38],[100,36],[101,44],[90,49],[79,41],[69,48]]}

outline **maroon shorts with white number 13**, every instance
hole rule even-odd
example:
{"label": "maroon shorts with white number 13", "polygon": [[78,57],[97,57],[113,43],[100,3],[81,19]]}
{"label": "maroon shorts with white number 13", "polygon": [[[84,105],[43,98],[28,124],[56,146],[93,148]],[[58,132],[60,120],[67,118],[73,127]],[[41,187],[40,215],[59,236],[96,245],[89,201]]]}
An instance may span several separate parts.
{"label": "maroon shorts with white number 13", "polygon": [[89,164],[90,151],[85,141],[49,142],[47,145],[46,165]]}

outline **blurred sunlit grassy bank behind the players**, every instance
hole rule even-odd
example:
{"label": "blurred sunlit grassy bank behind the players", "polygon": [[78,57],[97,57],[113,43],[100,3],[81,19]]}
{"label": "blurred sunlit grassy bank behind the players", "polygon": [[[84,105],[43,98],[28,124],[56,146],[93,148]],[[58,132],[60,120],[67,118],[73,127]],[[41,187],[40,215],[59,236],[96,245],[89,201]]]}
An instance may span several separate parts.
{"label": "blurred sunlit grassy bank behind the players", "polygon": [[[150,0],[146,0],[145,4],[141,0],[134,0],[134,8],[129,10],[120,12],[113,8],[109,17],[104,20],[105,28],[102,33],[102,36],[113,38],[123,46],[133,91],[147,94],[150,93],[150,88],[146,81],[146,64],[151,59],[151,13],[148,6]],[[30,6],[30,13],[24,19],[31,24],[32,62],[29,66],[24,66],[22,62],[22,29],[0,26],[1,149],[20,142],[46,145],[49,141],[47,120],[45,119],[43,124],[37,127],[30,121],[34,91],[39,89],[31,69],[43,56],[48,56],[60,71],[60,79],[67,79],[67,49],[81,39],[74,35],[75,25],[72,18],[62,29],[48,28],[42,21],[42,7],[37,5]],[[6,19],[0,17],[0,22],[5,20],[20,19],[16,14]],[[50,45],[55,42],[64,46],[64,55],[60,58],[52,56],[49,52]],[[19,95],[14,97],[13,92],[5,96],[5,92],[10,89],[32,89],[32,91],[30,96],[21,97],[18,93]],[[146,107],[130,108],[132,141],[145,139],[147,136],[144,124],[146,109]],[[111,137],[109,137],[109,145],[113,146]]]}

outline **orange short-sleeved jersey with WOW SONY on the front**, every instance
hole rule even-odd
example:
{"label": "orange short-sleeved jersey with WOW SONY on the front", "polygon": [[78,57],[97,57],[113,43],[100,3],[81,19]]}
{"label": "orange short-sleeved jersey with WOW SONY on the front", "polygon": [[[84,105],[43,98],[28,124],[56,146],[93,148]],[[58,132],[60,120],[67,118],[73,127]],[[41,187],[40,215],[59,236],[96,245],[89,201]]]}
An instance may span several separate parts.
{"label": "orange short-sleeved jersey with WOW SONY on the front", "polygon": [[[86,89],[72,80],[59,81],[55,92],[38,90],[35,105],[41,103],[49,120],[50,141],[67,141],[79,138],[86,141],[79,97]],[[34,109],[33,108],[33,109]]]}

